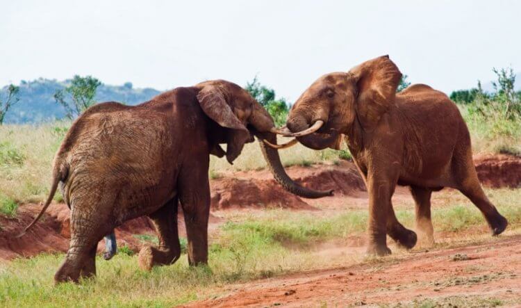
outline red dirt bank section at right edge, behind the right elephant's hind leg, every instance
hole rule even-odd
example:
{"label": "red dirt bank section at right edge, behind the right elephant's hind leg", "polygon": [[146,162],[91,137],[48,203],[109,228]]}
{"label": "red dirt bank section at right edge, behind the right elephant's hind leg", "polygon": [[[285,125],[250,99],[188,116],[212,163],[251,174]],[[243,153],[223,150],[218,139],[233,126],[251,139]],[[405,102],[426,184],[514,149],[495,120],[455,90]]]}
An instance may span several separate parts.
{"label": "red dirt bank section at right edge, behind the right elephant's hind leg", "polygon": [[521,186],[521,157],[510,155],[477,156],[474,165],[484,186],[499,188]]}

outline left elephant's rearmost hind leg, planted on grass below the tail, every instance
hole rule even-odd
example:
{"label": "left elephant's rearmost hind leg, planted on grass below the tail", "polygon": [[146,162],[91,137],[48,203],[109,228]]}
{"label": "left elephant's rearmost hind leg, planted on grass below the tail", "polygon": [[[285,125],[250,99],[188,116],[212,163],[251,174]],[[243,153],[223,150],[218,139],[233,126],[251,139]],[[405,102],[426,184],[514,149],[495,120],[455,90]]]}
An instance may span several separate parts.
{"label": "left elephant's rearmost hind leg, planted on grass below the tail", "polygon": [[65,261],[54,275],[56,283],[78,282],[80,277],[96,275],[96,248],[98,242],[112,228],[104,219],[90,217],[81,211],[83,206],[72,206],[71,240]]}

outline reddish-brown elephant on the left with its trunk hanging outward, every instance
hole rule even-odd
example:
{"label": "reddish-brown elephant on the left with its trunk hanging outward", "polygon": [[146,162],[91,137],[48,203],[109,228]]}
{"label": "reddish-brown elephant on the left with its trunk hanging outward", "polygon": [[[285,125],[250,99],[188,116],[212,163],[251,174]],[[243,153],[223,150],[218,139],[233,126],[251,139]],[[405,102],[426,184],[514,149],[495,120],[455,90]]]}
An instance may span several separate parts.
{"label": "reddish-brown elephant on the left with its trunk hanging outward", "polygon": [[[209,154],[226,155],[232,163],[253,136],[276,143],[274,129],[272,117],[248,92],[220,80],[176,88],[138,106],[97,104],[65,136],[54,159],[49,198],[26,230],[42,216],[60,184],[71,209],[71,240],[56,282],[95,275],[97,243],[122,222],[143,215],[153,220],[159,245],[142,248],[140,266],[172,264],[181,254],[179,200],[189,263],[206,264]],[[274,177],[288,191],[303,197],[331,194],[296,184],[276,150],[260,145]]]}

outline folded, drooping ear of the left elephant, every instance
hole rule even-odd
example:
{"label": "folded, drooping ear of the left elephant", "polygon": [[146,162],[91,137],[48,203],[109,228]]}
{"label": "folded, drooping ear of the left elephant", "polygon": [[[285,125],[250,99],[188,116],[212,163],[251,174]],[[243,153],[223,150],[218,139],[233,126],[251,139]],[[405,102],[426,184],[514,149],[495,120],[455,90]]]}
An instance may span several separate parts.
{"label": "folded, drooping ear of the left elephant", "polygon": [[[229,163],[233,163],[242,151],[246,141],[250,139],[250,134],[245,124],[242,124],[232,111],[231,102],[229,102],[231,99],[232,95],[224,88],[215,84],[204,86],[197,94],[197,100],[204,113],[226,129],[226,160]],[[214,150],[212,149],[212,154],[215,152]],[[217,152],[220,151],[217,149]],[[222,156],[221,152],[219,154]]]}

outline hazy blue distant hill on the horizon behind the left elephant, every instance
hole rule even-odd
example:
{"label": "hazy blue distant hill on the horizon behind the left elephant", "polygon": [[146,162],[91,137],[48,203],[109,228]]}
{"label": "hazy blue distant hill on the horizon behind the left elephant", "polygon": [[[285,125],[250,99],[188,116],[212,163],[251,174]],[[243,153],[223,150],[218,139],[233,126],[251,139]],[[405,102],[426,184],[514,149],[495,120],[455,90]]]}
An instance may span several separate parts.
{"label": "hazy blue distant hill on the horizon behind the left elephant", "polygon": [[[19,102],[7,113],[4,123],[40,123],[65,117],[65,110],[56,103],[53,98],[56,90],[67,86],[70,80],[56,81],[56,79],[36,79],[35,81],[22,81],[19,84]],[[1,94],[7,86],[1,89]],[[153,88],[133,88],[132,83],[124,83],[123,86],[109,86],[102,84],[96,93],[97,102],[116,101],[124,104],[136,105],[146,102],[160,91]]]}

